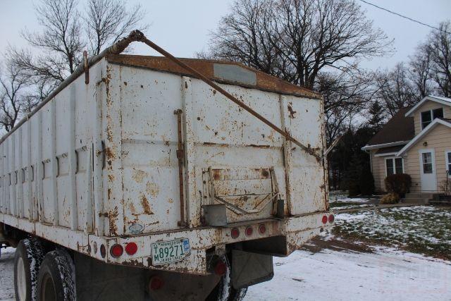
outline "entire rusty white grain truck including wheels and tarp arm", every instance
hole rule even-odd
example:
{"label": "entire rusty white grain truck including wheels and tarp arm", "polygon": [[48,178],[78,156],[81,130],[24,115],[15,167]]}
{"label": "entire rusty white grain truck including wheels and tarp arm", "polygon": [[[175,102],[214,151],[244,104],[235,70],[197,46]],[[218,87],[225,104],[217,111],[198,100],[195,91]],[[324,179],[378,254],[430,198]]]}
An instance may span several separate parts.
{"label": "entire rusty white grain truck including wheels and tarp arm", "polygon": [[240,300],[333,225],[324,152],[319,94],[132,32],[1,139],[16,297]]}

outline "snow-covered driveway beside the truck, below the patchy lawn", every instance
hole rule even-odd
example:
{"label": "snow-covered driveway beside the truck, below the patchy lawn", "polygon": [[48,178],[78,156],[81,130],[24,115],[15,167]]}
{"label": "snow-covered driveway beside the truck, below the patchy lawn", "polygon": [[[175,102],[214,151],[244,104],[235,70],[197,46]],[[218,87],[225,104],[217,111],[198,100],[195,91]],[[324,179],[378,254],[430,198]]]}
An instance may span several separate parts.
{"label": "snow-covered driveway beside the truck, below the patchy lawn", "polygon": [[379,247],[373,253],[296,251],[245,300],[451,300],[451,262]]}

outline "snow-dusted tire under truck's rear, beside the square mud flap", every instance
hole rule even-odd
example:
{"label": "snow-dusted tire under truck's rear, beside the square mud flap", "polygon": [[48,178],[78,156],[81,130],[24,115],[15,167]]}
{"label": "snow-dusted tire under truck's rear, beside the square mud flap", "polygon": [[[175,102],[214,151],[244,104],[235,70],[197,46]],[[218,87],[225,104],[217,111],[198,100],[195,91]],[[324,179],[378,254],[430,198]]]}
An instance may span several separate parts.
{"label": "snow-dusted tire under truck's rear, beside the square mud flap", "polygon": [[230,279],[230,273],[232,271],[230,262],[227,256],[221,258],[227,266],[226,274],[221,277],[218,285],[211,291],[210,295],[206,298],[207,301],[241,301],[247,293],[247,288],[240,288],[236,290],[232,286]]}

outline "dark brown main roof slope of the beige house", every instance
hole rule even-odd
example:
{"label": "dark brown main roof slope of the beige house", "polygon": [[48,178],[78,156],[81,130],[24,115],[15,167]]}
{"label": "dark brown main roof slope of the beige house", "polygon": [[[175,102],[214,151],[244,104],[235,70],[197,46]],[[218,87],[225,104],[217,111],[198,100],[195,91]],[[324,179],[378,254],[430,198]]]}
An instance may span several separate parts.
{"label": "dark brown main roof slope of the beige house", "polygon": [[409,107],[400,109],[362,149],[406,145],[415,136],[414,118],[405,116],[409,110]]}

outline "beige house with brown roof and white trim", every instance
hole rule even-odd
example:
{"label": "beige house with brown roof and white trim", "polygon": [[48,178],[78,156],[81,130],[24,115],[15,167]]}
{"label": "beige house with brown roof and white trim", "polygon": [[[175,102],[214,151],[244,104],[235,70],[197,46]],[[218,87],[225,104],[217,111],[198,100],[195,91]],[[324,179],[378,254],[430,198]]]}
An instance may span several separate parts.
{"label": "beige house with brown roof and white trim", "polygon": [[440,192],[451,171],[451,99],[424,97],[400,109],[362,147],[369,152],[376,191],[393,173],[412,177],[410,192]]}

